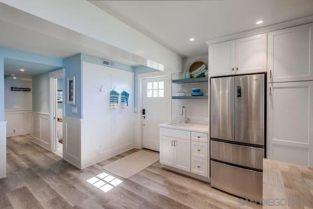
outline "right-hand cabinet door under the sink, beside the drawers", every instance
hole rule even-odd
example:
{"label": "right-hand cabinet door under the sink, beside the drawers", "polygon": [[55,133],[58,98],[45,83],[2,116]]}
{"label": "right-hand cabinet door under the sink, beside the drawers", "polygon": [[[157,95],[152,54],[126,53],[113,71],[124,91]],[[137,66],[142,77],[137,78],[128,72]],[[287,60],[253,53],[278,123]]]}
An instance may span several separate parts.
{"label": "right-hand cabinet door under the sink, beside the drawers", "polygon": [[175,139],[174,167],[190,172],[190,140]]}

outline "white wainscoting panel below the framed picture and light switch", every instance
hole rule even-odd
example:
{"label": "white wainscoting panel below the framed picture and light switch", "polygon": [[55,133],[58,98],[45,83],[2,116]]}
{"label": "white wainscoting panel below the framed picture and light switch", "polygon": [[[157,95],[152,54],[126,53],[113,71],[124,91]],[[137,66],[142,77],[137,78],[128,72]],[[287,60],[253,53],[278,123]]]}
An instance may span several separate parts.
{"label": "white wainscoting panel below the framed picture and light switch", "polygon": [[63,117],[63,159],[81,168],[81,119]]}

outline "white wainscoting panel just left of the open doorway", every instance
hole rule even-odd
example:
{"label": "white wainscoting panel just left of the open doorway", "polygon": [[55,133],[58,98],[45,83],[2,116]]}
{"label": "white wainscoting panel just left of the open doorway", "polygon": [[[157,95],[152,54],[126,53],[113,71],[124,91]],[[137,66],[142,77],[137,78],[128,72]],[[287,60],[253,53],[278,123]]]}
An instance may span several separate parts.
{"label": "white wainscoting panel just left of the open doorway", "polygon": [[32,141],[51,151],[50,115],[33,112],[32,122]]}

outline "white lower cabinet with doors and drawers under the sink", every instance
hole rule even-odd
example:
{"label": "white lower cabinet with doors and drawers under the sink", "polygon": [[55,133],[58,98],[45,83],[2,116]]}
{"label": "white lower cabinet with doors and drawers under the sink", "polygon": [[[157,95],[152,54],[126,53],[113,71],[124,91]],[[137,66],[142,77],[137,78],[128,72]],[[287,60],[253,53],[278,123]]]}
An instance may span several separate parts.
{"label": "white lower cabinet with doors and drawers under the sink", "polygon": [[160,128],[160,163],[190,172],[183,174],[194,178],[208,177],[207,138],[207,133]]}

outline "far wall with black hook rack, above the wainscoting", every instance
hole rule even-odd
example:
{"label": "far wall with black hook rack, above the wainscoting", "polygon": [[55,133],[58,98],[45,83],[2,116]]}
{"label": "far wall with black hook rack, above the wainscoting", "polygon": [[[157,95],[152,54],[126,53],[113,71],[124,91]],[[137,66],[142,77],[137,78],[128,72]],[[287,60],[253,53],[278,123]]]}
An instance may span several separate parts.
{"label": "far wall with black hook rack, above the wainscoting", "polygon": [[[32,92],[15,92],[11,87],[30,88],[32,91],[32,82],[4,79],[4,110],[31,110]],[[13,105],[20,107],[13,108]]]}

